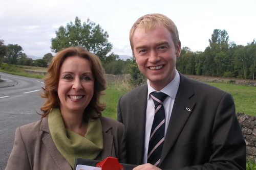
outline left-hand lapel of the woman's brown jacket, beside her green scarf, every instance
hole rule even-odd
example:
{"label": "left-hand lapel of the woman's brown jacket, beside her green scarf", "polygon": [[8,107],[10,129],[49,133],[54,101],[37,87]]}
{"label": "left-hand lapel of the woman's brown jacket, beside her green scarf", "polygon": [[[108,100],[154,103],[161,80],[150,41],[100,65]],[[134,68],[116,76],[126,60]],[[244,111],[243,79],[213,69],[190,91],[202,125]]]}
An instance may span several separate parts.
{"label": "left-hand lapel of the woman's brown jacket, beside her green scarf", "polygon": [[50,134],[49,130],[48,117],[42,119],[41,130],[46,133],[49,133],[47,136],[42,138],[42,141],[45,143],[46,148],[48,149],[53,160],[58,165],[59,169],[72,170],[72,167],[70,166],[69,162],[60,154],[60,152],[58,151],[53,142],[52,135]]}

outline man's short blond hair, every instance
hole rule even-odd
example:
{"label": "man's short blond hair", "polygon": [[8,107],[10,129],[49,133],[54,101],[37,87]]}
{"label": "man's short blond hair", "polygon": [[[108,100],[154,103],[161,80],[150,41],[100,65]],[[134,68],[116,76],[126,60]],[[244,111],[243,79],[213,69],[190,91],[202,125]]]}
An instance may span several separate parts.
{"label": "man's short blond hair", "polygon": [[171,19],[169,19],[167,16],[163,14],[155,13],[155,14],[146,14],[140,17],[139,19],[137,19],[137,21],[134,23],[133,27],[130,30],[130,44],[131,44],[132,50],[133,50],[133,36],[137,28],[143,28],[145,29],[145,32],[148,32],[158,25],[164,26],[169,30],[170,34],[172,34],[175,47],[177,47],[180,42],[180,39],[179,39],[178,29],[175,23]]}

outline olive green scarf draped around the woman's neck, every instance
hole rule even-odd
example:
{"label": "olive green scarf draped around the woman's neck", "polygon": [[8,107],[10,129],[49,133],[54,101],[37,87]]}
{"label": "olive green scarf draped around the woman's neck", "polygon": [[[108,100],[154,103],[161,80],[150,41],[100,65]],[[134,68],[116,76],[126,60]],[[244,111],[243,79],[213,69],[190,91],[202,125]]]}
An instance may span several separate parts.
{"label": "olive green scarf draped around the woman's neck", "polygon": [[54,144],[73,169],[75,158],[101,160],[103,136],[99,119],[88,120],[87,133],[84,137],[65,128],[58,108],[51,110],[48,122]]}

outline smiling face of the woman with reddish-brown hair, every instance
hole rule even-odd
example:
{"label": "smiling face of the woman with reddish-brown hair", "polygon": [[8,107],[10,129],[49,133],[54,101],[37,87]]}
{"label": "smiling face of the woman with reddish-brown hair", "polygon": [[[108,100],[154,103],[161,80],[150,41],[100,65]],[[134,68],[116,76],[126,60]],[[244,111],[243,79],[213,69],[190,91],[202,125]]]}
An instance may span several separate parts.
{"label": "smiling face of the woman with reddish-brown hair", "polygon": [[61,113],[83,112],[94,91],[90,61],[78,56],[66,58],[60,67],[57,91]]}

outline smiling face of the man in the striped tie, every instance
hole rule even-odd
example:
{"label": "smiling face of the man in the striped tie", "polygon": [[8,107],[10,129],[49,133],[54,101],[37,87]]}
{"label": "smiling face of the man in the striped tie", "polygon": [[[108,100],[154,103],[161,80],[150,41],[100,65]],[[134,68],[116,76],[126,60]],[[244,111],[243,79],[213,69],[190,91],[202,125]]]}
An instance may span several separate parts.
{"label": "smiling face of the man in the striped tie", "polygon": [[148,32],[137,28],[133,36],[133,52],[140,71],[155,90],[161,90],[174,79],[180,43],[176,48],[165,27],[159,25]]}

